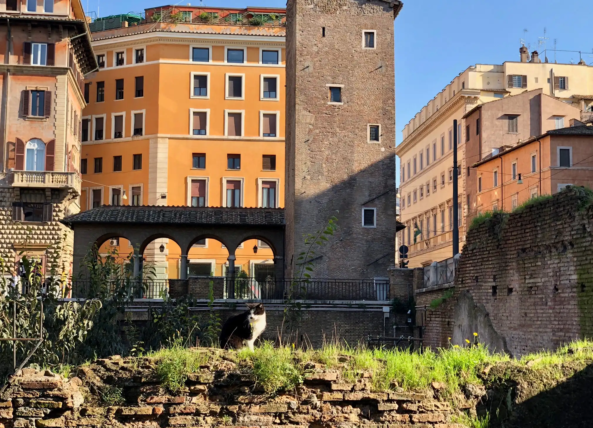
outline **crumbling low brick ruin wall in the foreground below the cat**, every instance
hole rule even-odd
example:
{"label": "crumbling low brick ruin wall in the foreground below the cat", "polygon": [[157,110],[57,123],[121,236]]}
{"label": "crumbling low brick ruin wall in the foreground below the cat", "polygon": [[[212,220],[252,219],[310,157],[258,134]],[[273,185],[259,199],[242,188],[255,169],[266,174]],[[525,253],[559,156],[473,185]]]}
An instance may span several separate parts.
{"label": "crumbling low brick ruin wall in the foreground below the cat", "polygon": [[[199,352],[220,352],[204,350]],[[451,406],[433,392],[372,392],[369,372],[349,383],[337,370],[308,364],[295,391],[266,394],[253,375],[222,353],[190,373],[186,388],[162,387],[149,357],[114,356],[75,369],[70,379],[24,369],[1,395],[0,424],[14,428],[342,426],[463,428],[451,424]],[[121,388],[123,403],[100,393]]]}

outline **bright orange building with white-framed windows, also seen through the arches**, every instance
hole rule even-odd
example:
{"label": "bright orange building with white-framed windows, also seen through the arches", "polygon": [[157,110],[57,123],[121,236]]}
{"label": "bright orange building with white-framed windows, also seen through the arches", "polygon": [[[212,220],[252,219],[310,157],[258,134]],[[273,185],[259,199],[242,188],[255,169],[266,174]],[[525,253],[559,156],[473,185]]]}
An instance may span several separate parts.
{"label": "bright orange building with white-framed windows, also seen through the arches", "polygon": [[[99,69],[85,80],[82,209],[283,207],[285,10],[167,6],[122,22],[92,34]],[[125,239],[109,246],[132,250]],[[180,277],[180,255],[164,238],[145,252],[169,278]],[[235,255],[250,276],[273,270],[263,242]],[[190,276],[225,273],[218,241],[188,256]]]}

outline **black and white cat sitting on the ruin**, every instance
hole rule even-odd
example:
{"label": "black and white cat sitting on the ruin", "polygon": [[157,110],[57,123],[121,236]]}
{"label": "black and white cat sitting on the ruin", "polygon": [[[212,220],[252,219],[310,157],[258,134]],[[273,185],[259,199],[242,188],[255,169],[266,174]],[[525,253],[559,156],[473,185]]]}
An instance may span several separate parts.
{"label": "black and white cat sitting on the ruin", "polygon": [[253,343],[266,328],[266,309],[261,303],[248,303],[247,311],[235,315],[222,326],[220,346],[224,349],[253,351]]}

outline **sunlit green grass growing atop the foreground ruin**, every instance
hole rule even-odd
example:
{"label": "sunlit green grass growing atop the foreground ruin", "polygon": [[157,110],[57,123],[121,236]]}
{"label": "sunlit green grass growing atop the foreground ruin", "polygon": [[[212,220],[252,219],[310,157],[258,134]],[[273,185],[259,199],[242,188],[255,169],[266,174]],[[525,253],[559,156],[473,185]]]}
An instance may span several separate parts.
{"label": "sunlit green grass growing atop the foreground ruin", "polygon": [[[475,337],[474,339],[477,339]],[[171,347],[151,352],[157,362],[157,373],[172,391],[184,387],[187,374],[199,370],[200,365],[221,358],[219,353],[190,349],[174,341]],[[533,369],[546,368],[561,373],[560,365],[570,361],[593,360],[593,340],[573,341],[555,352],[529,354],[514,360],[505,354],[490,353],[484,344],[450,346],[447,349],[411,352],[397,349],[366,349],[346,344],[326,344],[320,350],[299,350],[294,347],[275,347],[263,342],[255,352],[241,350],[229,356],[240,368],[248,370],[256,382],[268,392],[279,389],[290,391],[302,382],[305,365],[322,363],[337,369],[346,381],[355,381],[361,371],[372,373],[369,379],[375,391],[403,388],[422,391],[431,382],[443,382],[447,393],[453,395],[461,385],[481,384],[480,373],[485,366],[512,362]]]}

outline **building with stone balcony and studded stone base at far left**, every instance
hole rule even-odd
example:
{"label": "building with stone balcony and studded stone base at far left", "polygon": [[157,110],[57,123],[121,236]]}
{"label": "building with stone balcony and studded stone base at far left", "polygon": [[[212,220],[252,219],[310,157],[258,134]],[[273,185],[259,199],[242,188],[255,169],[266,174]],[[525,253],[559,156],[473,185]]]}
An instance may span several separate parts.
{"label": "building with stone balcony and studded stone base at far left", "polygon": [[71,272],[80,210],[83,76],[97,68],[79,0],[0,4],[0,257]]}

